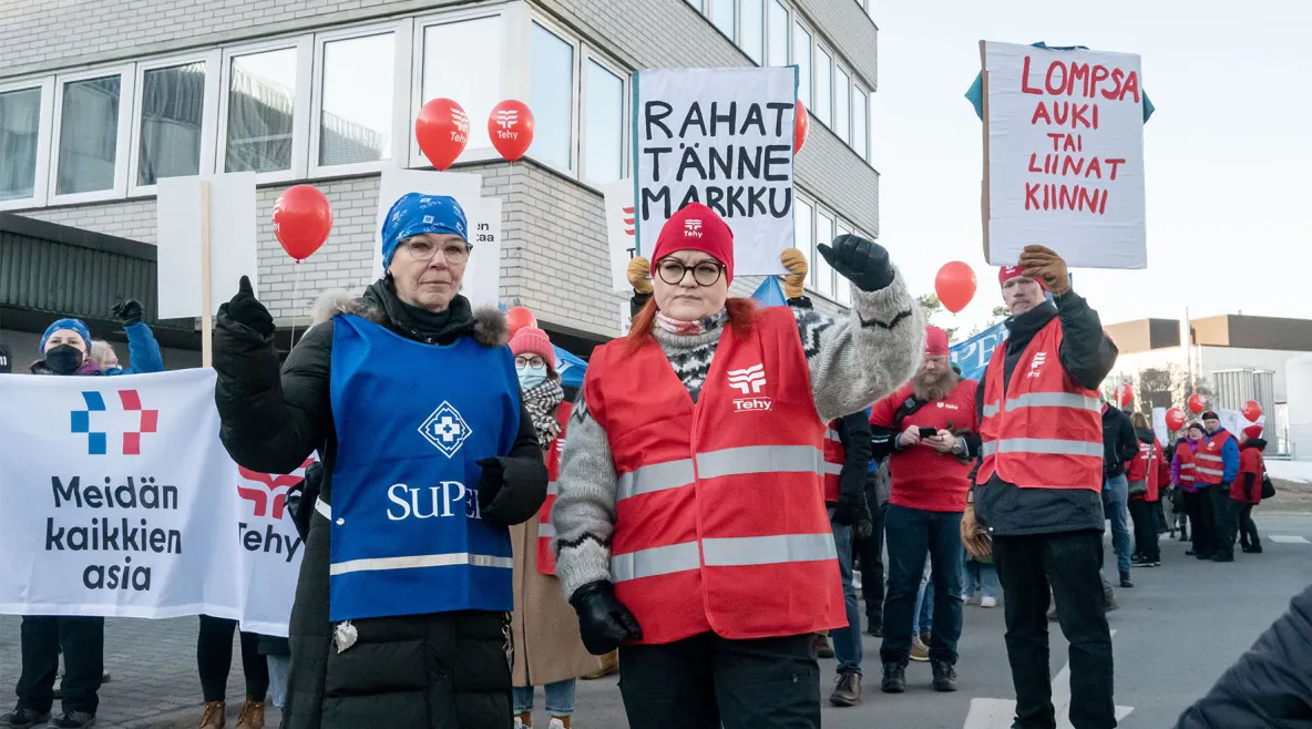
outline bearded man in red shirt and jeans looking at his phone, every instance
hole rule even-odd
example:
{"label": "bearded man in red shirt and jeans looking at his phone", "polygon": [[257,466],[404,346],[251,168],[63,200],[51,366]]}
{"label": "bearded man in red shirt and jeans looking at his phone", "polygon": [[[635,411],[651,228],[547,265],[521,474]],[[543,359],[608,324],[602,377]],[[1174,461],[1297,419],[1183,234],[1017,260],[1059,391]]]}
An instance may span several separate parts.
{"label": "bearded man in red shirt and jeans looking at his phone", "polygon": [[947,333],[925,328],[925,357],[909,383],[875,403],[870,427],[876,459],[888,459],[892,493],[884,515],[888,597],[884,601],[884,665],[880,687],[907,690],[916,594],[929,557],[933,627],[929,662],[935,691],[956,691],[956,641],[962,635],[960,523],[979,455],[975,380],[951,366]]}

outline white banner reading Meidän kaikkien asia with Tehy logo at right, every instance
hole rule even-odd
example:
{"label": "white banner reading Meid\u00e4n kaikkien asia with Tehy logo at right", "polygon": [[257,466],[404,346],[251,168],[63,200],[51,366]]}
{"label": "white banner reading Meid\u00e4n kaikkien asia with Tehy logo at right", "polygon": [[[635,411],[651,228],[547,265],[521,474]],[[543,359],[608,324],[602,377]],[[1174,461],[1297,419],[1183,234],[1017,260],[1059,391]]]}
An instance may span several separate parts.
{"label": "white banner reading Meid\u00e4n kaikkien asia with Tehy logo at right", "polygon": [[207,614],[286,635],[299,479],[239,472],[214,380],[0,378],[0,614]]}

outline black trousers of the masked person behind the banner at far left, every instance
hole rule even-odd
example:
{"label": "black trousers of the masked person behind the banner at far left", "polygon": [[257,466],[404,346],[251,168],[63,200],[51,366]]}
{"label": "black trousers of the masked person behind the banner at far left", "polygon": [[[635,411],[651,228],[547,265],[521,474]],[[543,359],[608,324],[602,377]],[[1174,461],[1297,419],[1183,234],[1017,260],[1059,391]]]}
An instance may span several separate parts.
{"label": "black trousers of the masked person behind the banner at far left", "polygon": [[20,628],[22,674],[18,708],[46,713],[55,701],[59,652],[64,653],[64,711],[96,713],[105,671],[105,619],[25,615]]}

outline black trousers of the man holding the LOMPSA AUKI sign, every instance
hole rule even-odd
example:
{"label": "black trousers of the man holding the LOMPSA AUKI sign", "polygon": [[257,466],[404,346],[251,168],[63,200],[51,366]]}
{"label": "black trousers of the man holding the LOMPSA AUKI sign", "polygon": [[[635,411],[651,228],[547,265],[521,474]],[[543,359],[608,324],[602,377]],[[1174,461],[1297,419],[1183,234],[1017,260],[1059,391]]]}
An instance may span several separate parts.
{"label": "black trousers of the man holding the LOMPSA AUKI sign", "polygon": [[994,536],[993,564],[1006,595],[1006,654],[1015,688],[1015,729],[1056,729],[1048,663],[1048,586],[1071,642],[1071,722],[1117,725],[1111,631],[1102,593],[1102,532]]}

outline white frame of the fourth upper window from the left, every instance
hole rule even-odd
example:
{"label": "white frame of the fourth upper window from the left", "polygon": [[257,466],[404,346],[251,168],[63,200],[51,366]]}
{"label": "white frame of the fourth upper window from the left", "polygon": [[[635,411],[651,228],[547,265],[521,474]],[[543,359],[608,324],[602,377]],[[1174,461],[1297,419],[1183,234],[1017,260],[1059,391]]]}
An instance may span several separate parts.
{"label": "white frame of the fourth upper window from the left", "polygon": [[261,54],[268,51],[282,51],[294,49],[297,51],[297,88],[291,110],[291,169],[273,172],[257,172],[255,181],[257,185],[270,182],[291,182],[306,180],[310,174],[310,92],[311,71],[314,62],[314,35],[293,35],[277,41],[264,41],[244,46],[223,49],[223,68],[219,84],[219,128],[218,144],[214,148],[214,169],[218,173],[227,172],[228,155],[228,97],[232,87],[232,59]]}

